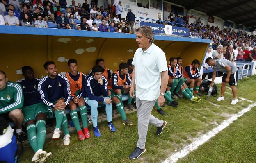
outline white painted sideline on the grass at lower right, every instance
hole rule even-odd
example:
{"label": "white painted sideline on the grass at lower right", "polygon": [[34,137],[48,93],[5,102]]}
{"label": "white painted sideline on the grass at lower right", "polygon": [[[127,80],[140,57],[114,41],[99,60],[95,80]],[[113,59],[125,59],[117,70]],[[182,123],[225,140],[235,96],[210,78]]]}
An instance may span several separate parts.
{"label": "white painted sideline on the grass at lower right", "polygon": [[238,117],[241,117],[242,115],[244,115],[244,113],[250,111],[251,108],[254,106],[256,106],[256,103],[249,105],[247,108],[239,111],[231,118],[224,120],[224,122],[222,122],[219,126],[215,127],[208,133],[203,134],[203,136],[201,136],[200,138],[195,138],[190,145],[187,145],[181,151],[172,154],[165,161],[163,161],[163,163],[176,163],[180,158],[187,156],[187,154],[197,149],[200,145],[206,143],[206,141],[208,141],[210,138],[219,133],[219,131],[222,131],[223,129],[228,127],[231,123],[233,123],[234,120],[237,120]]}

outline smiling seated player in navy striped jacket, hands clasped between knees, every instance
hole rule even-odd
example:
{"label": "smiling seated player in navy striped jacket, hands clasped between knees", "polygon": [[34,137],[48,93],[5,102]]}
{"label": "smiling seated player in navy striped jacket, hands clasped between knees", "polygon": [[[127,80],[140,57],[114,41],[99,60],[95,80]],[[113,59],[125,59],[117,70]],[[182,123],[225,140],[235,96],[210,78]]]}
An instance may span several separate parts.
{"label": "smiling seated player in navy striped jacket, hands clasped between knees", "polygon": [[56,126],[52,138],[59,139],[62,126],[64,131],[63,144],[69,145],[70,134],[65,113],[65,107],[70,100],[69,81],[66,77],[58,74],[53,61],[47,61],[43,67],[48,75],[40,80],[38,88],[43,102],[48,106],[48,110],[52,114],[54,113],[56,118]]}

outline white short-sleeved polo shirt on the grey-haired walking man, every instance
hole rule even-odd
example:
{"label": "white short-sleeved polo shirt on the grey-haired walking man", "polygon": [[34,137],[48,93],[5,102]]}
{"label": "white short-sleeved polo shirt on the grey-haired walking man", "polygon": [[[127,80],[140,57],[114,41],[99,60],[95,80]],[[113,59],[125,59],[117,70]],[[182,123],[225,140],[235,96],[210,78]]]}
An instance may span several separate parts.
{"label": "white short-sleeved polo shirt on the grey-haired walking man", "polygon": [[160,72],[168,70],[165,52],[154,43],[144,52],[142,48],[138,48],[132,64],[135,66],[136,97],[146,101],[158,99]]}

